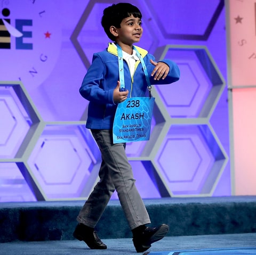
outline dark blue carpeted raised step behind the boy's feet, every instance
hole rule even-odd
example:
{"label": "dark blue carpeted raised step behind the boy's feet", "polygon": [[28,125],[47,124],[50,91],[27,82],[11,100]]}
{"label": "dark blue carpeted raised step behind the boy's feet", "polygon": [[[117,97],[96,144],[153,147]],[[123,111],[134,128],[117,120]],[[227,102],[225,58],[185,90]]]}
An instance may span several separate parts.
{"label": "dark blue carpeted raised step behind the boy's feet", "polygon": [[[145,200],[152,225],[166,223],[168,236],[256,232],[256,196]],[[0,203],[0,242],[74,240],[83,201]],[[131,238],[118,200],[110,201],[97,225],[104,238]]]}

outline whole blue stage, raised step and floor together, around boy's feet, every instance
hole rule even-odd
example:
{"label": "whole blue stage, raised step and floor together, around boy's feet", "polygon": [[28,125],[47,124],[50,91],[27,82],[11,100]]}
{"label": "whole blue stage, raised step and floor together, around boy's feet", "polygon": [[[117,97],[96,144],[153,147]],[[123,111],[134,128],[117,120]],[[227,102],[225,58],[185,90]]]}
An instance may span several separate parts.
{"label": "whole blue stage, raised step and floor together, around boy's feet", "polygon": [[[256,196],[163,198],[145,204],[152,225],[170,226],[167,236],[145,255],[256,254]],[[1,254],[136,253],[117,200],[110,201],[97,226],[107,250],[90,250],[74,240],[82,205],[83,201],[0,203]]]}

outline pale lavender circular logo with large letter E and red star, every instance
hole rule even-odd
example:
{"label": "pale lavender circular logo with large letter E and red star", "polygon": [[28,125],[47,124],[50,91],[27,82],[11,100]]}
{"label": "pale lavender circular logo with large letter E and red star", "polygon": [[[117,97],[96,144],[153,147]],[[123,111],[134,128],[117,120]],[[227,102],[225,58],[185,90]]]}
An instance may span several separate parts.
{"label": "pale lavender circular logo with large letter E and red star", "polygon": [[20,80],[29,88],[43,83],[61,48],[53,1],[4,1],[0,6],[0,80]]}

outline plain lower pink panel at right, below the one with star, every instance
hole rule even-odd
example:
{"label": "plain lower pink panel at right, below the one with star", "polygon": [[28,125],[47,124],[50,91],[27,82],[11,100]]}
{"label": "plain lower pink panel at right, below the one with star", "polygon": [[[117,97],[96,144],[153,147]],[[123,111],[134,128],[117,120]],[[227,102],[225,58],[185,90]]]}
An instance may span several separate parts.
{"label": "plain lower pink panel at right, below the one with star", "polygon": [[256,194],[256,88],[233,90],[235,195]]}

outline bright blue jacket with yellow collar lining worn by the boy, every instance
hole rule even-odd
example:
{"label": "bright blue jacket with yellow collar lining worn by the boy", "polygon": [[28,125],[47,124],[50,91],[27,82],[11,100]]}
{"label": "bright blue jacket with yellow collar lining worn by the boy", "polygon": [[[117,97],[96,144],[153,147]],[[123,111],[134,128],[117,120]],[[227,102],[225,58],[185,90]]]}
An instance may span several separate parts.
{"label": "bright blue jacket with yellow collar lining worn by the boy", "polygon": [[[114,89],[119,80],[117,48],[114,43],[109,43],[108,48],[93,54],[91,67],[88,69],[82,85],[80,94],[89,102],[86,128],[90,129],[112,129],[117,104],[113,101]],[[135,46],[145,61],[149,76],[155,66],[150,59],[155,57],[146,50]],[[170,71],[164,80],[150,78],[151,85],[171,84],[179,80],[180,71],[178,65],[171,60],[161,60],[170,67]],[[124,61],[125,88],[129,90],[128,97],[145,96],[147,81],[142,70],[140,61],[135,64],[135,71],[131,77],[129,67]]]}

